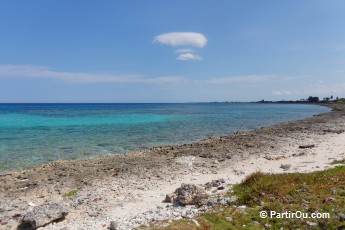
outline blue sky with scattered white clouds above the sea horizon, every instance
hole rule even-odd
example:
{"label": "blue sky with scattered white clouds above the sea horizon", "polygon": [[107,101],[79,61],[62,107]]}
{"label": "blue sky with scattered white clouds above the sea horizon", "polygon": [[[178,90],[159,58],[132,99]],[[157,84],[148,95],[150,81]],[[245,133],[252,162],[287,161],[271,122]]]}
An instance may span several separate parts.
{"label": "blue sky with scattered white clouds above the sea horizon", "polygon": [[345,97],[344,12],[344,0],[0,0],[0,103]]}

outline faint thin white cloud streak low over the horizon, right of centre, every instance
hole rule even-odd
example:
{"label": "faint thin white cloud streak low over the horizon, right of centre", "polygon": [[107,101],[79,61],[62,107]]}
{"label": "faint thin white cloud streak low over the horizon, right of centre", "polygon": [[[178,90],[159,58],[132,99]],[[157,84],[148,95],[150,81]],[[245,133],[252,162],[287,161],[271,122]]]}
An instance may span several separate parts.
{"label": "faint thin white cloud streak low over the horizon, right of centre", "polygon": [[223,78],[214,78],[208,80],[208,83],[212,84],[231,84],[231,83],[263,83],[273,81],[272,75],[248,75],[248,76],[232,76]]}

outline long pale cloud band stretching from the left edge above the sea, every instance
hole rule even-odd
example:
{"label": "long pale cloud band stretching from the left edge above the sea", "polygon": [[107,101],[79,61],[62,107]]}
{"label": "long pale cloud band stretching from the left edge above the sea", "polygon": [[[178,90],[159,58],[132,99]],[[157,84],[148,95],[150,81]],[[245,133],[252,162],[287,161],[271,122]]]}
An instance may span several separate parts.
{"label": "long pale cloud band stretching from the left edge above the sea", "polygon": [[170,84],[184,81],[180,76],[145,78],[139,74],[96,74],[85,72],[55,71],[44,66],[0,65],[1,77],[48,78],[73,83],[146,83]]}

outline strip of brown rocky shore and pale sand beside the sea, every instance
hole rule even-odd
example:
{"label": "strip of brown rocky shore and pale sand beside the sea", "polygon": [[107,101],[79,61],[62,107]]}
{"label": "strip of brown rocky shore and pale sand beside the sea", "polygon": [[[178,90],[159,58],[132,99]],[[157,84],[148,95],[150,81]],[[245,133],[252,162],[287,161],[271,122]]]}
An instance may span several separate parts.
{"label": "strip of brown rocky shore and pale sand beside the sea", "polygon": [[[110,221],[119,222],[119,229],[128,229],[135,226],[138,216],[165,206],[165,195],[181,183],[224,178],[227,184],[234,184],[256,170],[307,172],[331,167],[328,163],[332,159],[345,158],[344,129],[344,110],[332,111],[196,143],[58,161],[1,174],[0,195],[4,199],[0,209],[4,212],[0,219],[7,224],[0,229],[17,229],[20,218],[33,207],[54,202],[66,204],[69,214],[42,229],[100,229]],[[310,144],[315,147],[299,148]],[[284,171],[282,164],[291,168]],[[64,198],[72,189],[77,194]],[[84,201],[79,204],[78,200]]]}

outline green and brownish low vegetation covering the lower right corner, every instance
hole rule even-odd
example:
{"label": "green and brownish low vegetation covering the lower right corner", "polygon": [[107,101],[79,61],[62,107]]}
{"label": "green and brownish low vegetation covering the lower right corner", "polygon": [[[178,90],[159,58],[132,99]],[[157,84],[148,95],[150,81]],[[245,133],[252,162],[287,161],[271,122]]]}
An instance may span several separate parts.
{"label": "green and brownish low vegetation covering the lower right corner", "polygon": [[[345,221],[345,166],[325,171],[286,174],[254,173],[235,185],[229,196],[236,205],[221,206],[192,220],[173,221],[166,227],[150,229],[343,229]],[[329,213],[330,218],[261,218],[259,213]]]}

